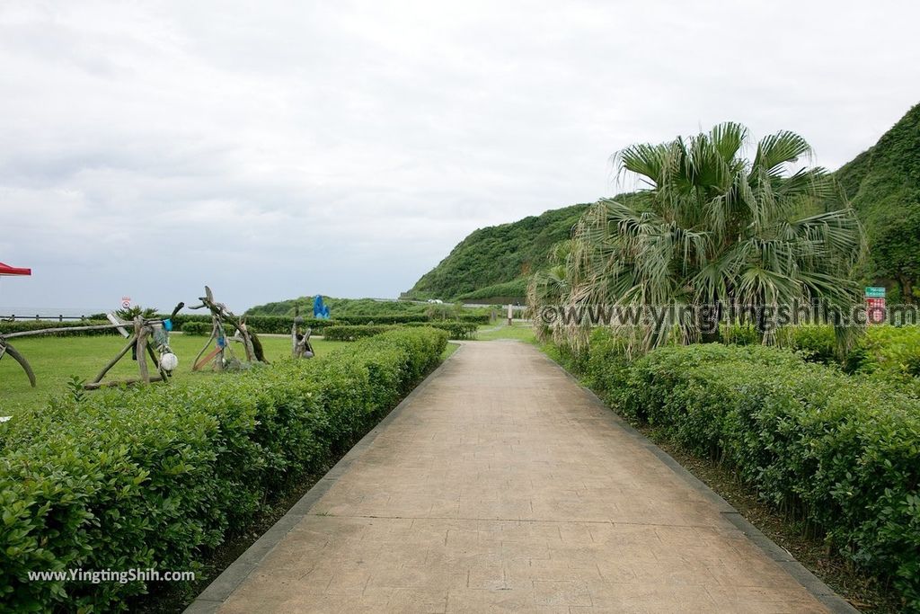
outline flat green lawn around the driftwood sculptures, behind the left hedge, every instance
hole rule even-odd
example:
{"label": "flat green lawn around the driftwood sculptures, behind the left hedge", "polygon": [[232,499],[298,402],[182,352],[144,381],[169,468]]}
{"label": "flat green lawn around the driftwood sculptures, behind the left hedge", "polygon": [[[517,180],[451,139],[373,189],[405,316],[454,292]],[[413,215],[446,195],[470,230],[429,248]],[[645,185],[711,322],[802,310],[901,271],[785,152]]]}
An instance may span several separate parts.
{"label": "flat green lawn around the driftwood sculptures, behind the left hedge", "polygon": [[[191,372],[191,362],[201,351],[207,339],[207,337],[193,335],[170,335],[169,345],[179,360],[173,379],[187,380],[211,375],[209,370]],[[265,349],[265,357],[270,362],[291,355],[290,338],[262,335],[259,336],[259,340]],[[66,389],[67,381],[71,376],[86,380],[96,377],[102,367],[124,347],[125,340],[121,336],[106,335],[101,337],[27,337],[10,340],[10,342],[32,365],[37,386],[36,388],[29,387],[29,378],[26,377],[22,368],[12,358],[4,356],[3,360],[0,360],[0,416],[10,415],[11,410],[17,406],[40,403],[49,395],[62,392]],[[311,343],[316,354],[320,356],[343,345],[343,342],[327,342],[322,339],[311,340]],[[239,343],[233,344],[233,351],[236,357],[246,355]],[[151,373],[155,373],[149,359],[147,367]],[[122,358],[118,365],[112,367],[106,379],[137,376],[137,364],[131,360],[129,354]]]}

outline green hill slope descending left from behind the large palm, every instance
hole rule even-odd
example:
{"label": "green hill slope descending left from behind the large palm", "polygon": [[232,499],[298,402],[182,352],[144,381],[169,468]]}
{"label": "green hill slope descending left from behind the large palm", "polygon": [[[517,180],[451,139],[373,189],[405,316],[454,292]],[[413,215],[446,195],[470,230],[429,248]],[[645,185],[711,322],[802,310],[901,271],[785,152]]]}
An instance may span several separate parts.
{"label": "green hill slope descending left from behind the large palm", "polygon": [[586,207],[587,204],[576,204],[511,224],[479,228],[422,275],[405,296],[523,299],[529,276],[546,265],[554,243],[569,238],[571,227]]}

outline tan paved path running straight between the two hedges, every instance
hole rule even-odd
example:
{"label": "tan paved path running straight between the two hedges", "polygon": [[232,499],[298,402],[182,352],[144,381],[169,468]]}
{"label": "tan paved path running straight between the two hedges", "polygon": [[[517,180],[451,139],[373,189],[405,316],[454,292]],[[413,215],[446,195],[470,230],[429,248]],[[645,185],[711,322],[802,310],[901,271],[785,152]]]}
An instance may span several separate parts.
{"label": "tan paved path running straight between the two hedges", "polygon": [[467,342],[190,611],[848,608],[758,536],[534,347]]}

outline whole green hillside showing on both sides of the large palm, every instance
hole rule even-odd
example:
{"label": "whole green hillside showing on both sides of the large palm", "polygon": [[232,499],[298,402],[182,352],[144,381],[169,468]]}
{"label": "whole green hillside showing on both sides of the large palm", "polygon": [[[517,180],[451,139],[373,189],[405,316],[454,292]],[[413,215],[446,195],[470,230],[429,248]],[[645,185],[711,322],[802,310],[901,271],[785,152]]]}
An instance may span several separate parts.
{"label": "whole green hillside showing on both sides of the large palm", "polygon": [[[887,285],[891,302],[915,301],[920,296],[920,105],[834,174],[866,226],[870,255],[861,272],[866,282]],[[406,296],[523,298],[529,275],[544,266],[551,245],[569,238],[586,206],[480,228]]]}

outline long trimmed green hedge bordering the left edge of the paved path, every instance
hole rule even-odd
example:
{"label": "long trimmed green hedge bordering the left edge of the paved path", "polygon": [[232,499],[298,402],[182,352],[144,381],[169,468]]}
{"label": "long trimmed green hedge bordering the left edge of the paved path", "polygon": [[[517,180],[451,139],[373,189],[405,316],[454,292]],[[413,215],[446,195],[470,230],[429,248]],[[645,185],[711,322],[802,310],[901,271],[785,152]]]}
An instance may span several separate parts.
{"label": "long trimmed green hedge bordering the left edge of the paved path", "polygon": [[149,588],[29,571],[198,568],[283,483],[327,469],[377,423],[446,337],[393,330],[314,360],[18,412],[0,423],[0,606],[118,610]]}

